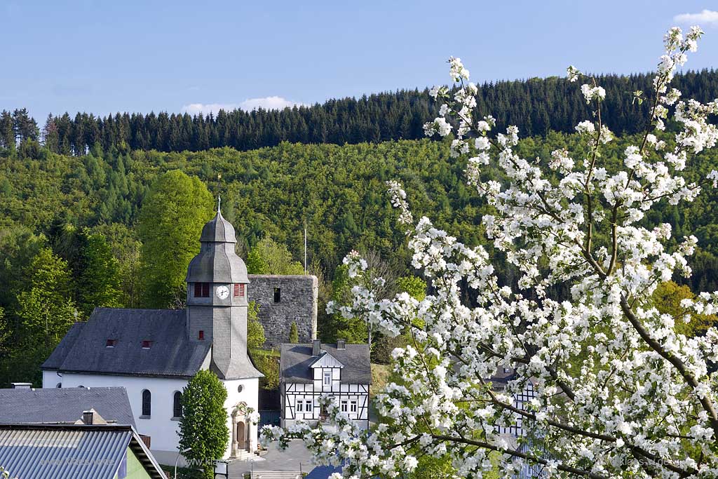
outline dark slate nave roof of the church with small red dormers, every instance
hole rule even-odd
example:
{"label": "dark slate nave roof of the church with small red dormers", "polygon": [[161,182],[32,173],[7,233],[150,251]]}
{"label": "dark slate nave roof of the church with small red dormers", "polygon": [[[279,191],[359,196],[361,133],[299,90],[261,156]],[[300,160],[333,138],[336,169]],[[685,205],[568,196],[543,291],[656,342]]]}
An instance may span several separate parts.
{"label": "dark slate nave roof of the church with small red dormers", "polygon": [[[77,332],[74,345],[57,365],[43,369],[80,373],[187,378],[200,370],[210,352],[209,341],[190,340],[185,310],[95,308]],[[108,339],[116,340],[106,348]],[[143,349],[142,341],[152,341]],[[52,359],[52,356],[51,356]]]}

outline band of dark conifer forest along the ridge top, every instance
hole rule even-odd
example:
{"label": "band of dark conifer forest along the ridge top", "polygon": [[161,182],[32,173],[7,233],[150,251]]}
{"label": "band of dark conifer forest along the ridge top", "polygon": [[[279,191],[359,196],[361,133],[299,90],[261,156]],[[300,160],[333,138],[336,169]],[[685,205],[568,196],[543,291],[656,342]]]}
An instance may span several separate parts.
{"label": "band of dark conifer forest along the ridge top", "polygon": [[[651,74],[597,78],[607,91],[602,116],[612,131],[632,134],[642,129],[649,106],[634,104],[633,92],[650,91],[652,78]],[[676,75],[673,87],[679,88],[684,98],[710,101],[718,98],[718,71]],[[522,136],[572,133],[579,121],[589,118],[589,108],[578,89],[576,83],[558,77],[485,83],[477,96],[478,109],[495,116],[500,129],[515,124]],[[95,144],[105,151],[114,147],[119,152],[199,152],[218,147],[273,147],[281,141],[378,143],[422,138],[423,124],[437,111],[428,90],[399,90],[282,111],[220,111],[217,116],[162,112],[99,118],[78,113],[73,118],[65,113],[47,118],[41,136],[34,119],[20,109],[0,115],[0,147],[39,137],[50,151],[74,155],[85,154]]]}

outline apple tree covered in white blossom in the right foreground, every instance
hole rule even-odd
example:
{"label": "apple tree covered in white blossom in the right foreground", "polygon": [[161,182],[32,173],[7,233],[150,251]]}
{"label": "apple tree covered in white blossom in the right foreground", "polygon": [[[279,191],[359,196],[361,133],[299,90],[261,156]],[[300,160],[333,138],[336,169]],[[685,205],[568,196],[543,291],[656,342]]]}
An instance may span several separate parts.
{"label": "apple tree covered in white blossom in the right foreground", "polygon": [[[586,80],[580,93],[595,110],[576,126],[588,154],[557,149],[547,159],[524,159],[515,151],[518,129],[495,132],[494,119],[476,111],[469,72],[449,59],[455,88],[431,91],[443,104],[425,130],[454,133],[452,157],[467,157],[467,182],[493,208],[482,218],[493,248],[467,247],[428,218],[415,221],[401,186],[389,182],[413,265],[434,294],[381,299],[361,282],[353,304],[329,306],[387,335],[410,332],[412,344],[393,351],[397,380],[374,399],[386,420],[360,431],[322,398],[334,428],[267,427],[264,441],[301,438],[320,462],[343,461],[345,478],[401,477],[426,455],[452,457],[459,478],[489,470],[510,476],[526,463],[546,476],[717,477],[718,330],[686,337],[674,326],[691,310],[717,312],[718,292],[684,300],[679,317],[652,307],[658,284],[691,274],[696,238],[671,250],[671,226],[644,220],[651,208],[717,186],[716,171],[699,182],[685,177],[691,159],[716,144],[708,116],[718,101],[682,100],[669,87],[701,34],[697,27],[685,37],[679,28],[666,34],[651,94],[635,92],[650,102],[648,127],[618,168],[602,157],[615,141],[601,119],[605,90],[577,68],[569,67],[568,79]],[[665,131],[668,121],[675,134]],[[488,167],[500,170],[498,180],[488,179]],[[518,286],[500,283],[497,251],[520,271]],[[355,253],[345,264],[354,276],[365,269]],[[549,297],[557,285],[566,297]],[[471,305],[462,301],[466,287]],[[516,373],[495,389],[491,378],[504,367]],[[536,396],[517,407],[513,398],[529,382]],[[518,421],[523,436],[502,434]]]}

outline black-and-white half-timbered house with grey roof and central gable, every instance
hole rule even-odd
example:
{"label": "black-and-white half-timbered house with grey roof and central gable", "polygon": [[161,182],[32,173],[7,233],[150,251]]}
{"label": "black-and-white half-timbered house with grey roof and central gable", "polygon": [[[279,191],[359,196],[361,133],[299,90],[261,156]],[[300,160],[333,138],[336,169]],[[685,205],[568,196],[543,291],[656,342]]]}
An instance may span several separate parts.
{"label": "black-and-white half-timbered house with grey roof and central gable", "polygon": [[334,398],[340,411],[358,426],[369,427],[369,386],[371,365],[369,345],[283,344],[279,362],[281,426],[299,419],[316,425],[325,417],[317,399]]}

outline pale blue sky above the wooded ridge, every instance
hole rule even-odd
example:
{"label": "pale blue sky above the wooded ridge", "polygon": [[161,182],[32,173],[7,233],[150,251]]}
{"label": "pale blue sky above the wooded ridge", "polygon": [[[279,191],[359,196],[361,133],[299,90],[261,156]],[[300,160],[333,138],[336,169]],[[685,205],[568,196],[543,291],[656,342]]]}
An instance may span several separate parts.
{"label": "pale blue sky above the wooded ridge", "polygon": [[[704,10],[718,1],[0,0],[0,110],[43,124],[315,103],[447,83],[449,55],[476,81],[641,72],[676,15]],[[697,17],[707,35],[687,68],[718,67],[716,17]]]}

